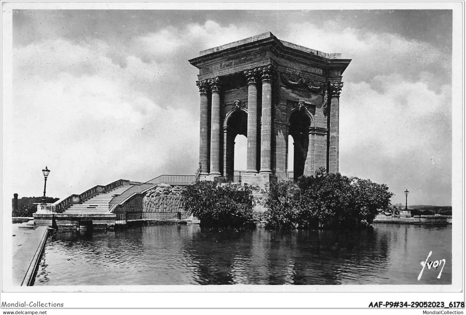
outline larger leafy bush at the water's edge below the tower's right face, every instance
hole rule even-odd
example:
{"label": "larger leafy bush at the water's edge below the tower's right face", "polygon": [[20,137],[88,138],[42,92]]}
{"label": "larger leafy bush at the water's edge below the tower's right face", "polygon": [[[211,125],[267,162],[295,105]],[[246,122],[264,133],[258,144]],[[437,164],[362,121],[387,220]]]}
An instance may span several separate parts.
{"label": "larger leafy bush at the water's edge below the tower's right face", "polygon": [[300,177],[296,184],[274,184],[271,191],[267,200],[271,228],[358,228],[392,209],[393,194],[386,185],[329,174],[323,168],[314,176]]}

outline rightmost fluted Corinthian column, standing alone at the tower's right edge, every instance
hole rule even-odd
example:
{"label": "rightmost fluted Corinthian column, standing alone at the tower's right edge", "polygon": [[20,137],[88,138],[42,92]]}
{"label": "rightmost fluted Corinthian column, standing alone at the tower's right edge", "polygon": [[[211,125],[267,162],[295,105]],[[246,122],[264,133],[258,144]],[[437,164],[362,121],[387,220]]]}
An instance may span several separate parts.
{"label": "rightmost fluted Corinthian column, standing alone at the tower's right edge", "polygon": [[340,92],[342,87],[343,82],[330,83],[329,173],[338,173]]}

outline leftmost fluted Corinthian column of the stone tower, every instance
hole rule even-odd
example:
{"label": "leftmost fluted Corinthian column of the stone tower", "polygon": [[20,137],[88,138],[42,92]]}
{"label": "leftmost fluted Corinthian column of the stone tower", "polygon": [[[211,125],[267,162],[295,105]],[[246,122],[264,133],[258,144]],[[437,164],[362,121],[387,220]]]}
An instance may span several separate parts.
{"label": "leftmost fluted Corinthian column of the stone tower", "polygon": [[209,98],[207,91],[209,84],[207,80],[196,82],[200,94],[200,132],[199,132],[199,163],[201,164],[201,175],[209,174]]}

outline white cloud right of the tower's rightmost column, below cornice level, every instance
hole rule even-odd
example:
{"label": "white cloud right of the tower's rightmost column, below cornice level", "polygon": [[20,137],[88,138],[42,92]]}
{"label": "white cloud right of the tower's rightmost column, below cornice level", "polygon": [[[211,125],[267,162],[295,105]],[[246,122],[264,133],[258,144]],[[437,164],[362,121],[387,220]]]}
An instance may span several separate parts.
{"label": "white cloud right of the tower's rightmost column, below cornice level", "polygon": [[431,148],[439,129],[451,123],[448,86],[435,94],[425,83],[404,82],[398,75],[374,81],[381,82],[379,91],[365,82],[348,82],[343,88],[340,150],[377,144],[381,155],[394,158],[408,149],[424,152]]}

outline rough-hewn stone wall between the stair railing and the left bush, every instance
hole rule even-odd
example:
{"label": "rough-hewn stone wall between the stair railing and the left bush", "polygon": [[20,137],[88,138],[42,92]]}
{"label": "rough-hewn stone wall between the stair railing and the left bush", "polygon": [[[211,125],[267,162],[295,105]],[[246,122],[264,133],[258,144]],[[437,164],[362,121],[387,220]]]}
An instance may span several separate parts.
{"label": "rough-hewn stone wall between the stair railing and the left bush", "polygon": [[146,193],[143,212],[184,212],[181,192],[183,186],[159,184]]}

